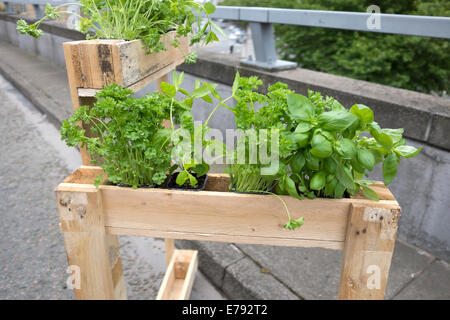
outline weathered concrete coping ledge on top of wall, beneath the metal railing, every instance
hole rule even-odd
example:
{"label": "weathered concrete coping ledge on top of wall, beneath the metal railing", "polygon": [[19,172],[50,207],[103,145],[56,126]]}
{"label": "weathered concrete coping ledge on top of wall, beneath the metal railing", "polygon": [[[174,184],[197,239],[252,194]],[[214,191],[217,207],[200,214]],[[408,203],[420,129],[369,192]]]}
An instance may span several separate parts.
{"label": "weathered concrete coping ledge on top of wall, beneath the metal railing", "polygon": [[236,71],[243,76],[258,76],[265,87],[284,82],[299,93],[308,89],[333,96],[343,105],[355,103],[371,107],[376,121],[387,128],[405,128],[405,136],[450,150],[450,99],[398,89],[367,81],[331,75],[306,69],[267,72],[240,64],[239,58],[199,51],[198,63],[178,68],[189,74],[232,85]]}

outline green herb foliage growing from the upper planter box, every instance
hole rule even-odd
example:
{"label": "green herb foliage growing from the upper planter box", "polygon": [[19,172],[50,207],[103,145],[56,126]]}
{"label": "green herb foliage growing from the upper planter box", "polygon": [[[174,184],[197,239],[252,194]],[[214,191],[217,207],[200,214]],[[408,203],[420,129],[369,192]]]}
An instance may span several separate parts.
{"label": "green herb foliage growing from the upper planter box", "polygon": [[[17,30],[22,34],[29,34],[40,38],[42,30],[39,25],[45,19],[57,19],[62,6],[52,7],[47,3],[45,16],[28,25],[24,20],[19,20]],[[85,15],[80,17],[79,29],[87,34],[87,38],[95,39],[142,39],[148,53],[167,50],[161,41],[161,36],[175,30],[177,40],[171,45],[178,47],[178,39],[182,36],[191,37],[191,45],[194,43],[208,44],[218,41],[215,31],[223,31],[211,21],[209,16],[215,12],[215,6],[206,2],[201,4],[194,0],[81,0],[81,11]],[[202,25],[202,20],[197,18],[203,14],[207,22]],[[197,31],[194,25],[197,24]],[[94,34],[89,34],[93,30]],[[186,56],[186,62],[192,63],[195,56]]]}

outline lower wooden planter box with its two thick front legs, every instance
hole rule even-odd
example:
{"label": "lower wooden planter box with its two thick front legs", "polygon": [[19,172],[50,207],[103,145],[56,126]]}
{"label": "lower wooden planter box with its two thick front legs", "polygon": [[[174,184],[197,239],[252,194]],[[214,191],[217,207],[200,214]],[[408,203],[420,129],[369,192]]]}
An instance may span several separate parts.
{"label": "lower wooden planter box with its two thick front legs", "polygon": [[[283,196],[293,218],[305,218],[300,229],[290,231],[282,227],[286,213],[279,199],[229,192],[226,175],[211,174],[205,191],[192,192],[112,185],[97,189],[93,182],[100,173],[98,167],[81,167],[56,188],[69,263],[89,270],[81,289],[75,289],[77,297],[114,298],[115,290],[121,290],[111,264],[120,256],[109,254],[108,260],[105,235],[344,250],[339,298],[384,297],[400,206],[382,183],[373,186],[379,202],[362,195],[315,200]],[[176,259],[172,257],[173,268]],[[166,286],[178,279],[173,268]]]}

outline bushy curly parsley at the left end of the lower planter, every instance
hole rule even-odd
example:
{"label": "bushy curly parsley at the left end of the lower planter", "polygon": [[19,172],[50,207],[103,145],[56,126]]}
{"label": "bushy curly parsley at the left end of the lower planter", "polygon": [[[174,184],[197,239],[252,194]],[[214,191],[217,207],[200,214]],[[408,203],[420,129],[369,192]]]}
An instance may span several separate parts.
{"label": "bushy curly parsley at the left end of the lower planter", "polygon": [[[69,146],[86,146],[93,164],[99,164],[115,184],[160,185],[171,163],[170,139],[163,120],[169,112],[176,119],[189,109],[160,93],[141,99],[133,92],[112,84],[97,93],[93,107],[82,106],[61,127],[62,139]],[[78,124],[90,126],[89,132]],[[101,177],[97,182],[101,181]]]}

